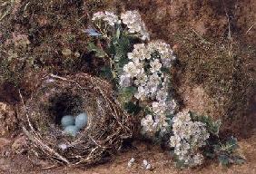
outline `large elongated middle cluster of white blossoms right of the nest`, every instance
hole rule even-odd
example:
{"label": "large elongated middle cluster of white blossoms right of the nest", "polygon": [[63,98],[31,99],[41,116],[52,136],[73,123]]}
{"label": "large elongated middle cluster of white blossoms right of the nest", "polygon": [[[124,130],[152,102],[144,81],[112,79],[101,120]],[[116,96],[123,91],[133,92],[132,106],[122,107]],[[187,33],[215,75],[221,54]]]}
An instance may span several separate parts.
{"label": "large elongated middle cluster of white blossoms right of the nest", "polygon": [[134,97],[148,103],[151,114],[141,121],[143,132],[164,132],[169,125],[166,116],[173,114],[176,102],[169,92],[169,73],[162,70],[171,68],[175,56],[170,45],[161,41],[133,46],[133,52],[128,53],[130,62],[123,66],[120,86],[135,86]]}

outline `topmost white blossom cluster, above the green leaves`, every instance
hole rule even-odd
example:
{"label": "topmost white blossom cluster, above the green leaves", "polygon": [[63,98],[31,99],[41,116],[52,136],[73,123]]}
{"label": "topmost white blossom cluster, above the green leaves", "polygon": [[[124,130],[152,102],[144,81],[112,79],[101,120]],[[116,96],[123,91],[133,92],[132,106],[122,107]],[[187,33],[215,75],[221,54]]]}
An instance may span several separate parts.
{"label": "topmost white blossom cluster, above the green leaves", "polygon": [[124,24],[126,25],[127,32],[129,34],[135,34],[136,36],[139,36],[143,41],[150,39],[146,26],[143,23],[141,14],[135,10],[126,11],[122,13],[120,17],[109,11],[97,12],[93,15],[92,20],[102,20],[111,26],[114,26],[114,24]]}

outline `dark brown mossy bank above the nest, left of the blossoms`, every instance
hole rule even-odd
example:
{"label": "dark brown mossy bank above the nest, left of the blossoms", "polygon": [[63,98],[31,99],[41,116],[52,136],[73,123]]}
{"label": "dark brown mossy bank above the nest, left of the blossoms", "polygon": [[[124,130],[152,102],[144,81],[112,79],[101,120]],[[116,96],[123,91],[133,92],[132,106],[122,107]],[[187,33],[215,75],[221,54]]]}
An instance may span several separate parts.
{"label": "dark brown mossy bank above the nest, left of the blossoms", "polygon": [[[5,3],[0,15],[10,10],[0,21],[1,81],[14,82],[21,87],[26,73],[40,70],[58,74],[97,73],[97,63],[86,53],[88,37],[84,29],[89,23],[87,14],[102,8],[105,2],[25,0]],[[18,46],[13,34],[27,36],[29,44]],[[65,50],[71,53],[64,55]]]}

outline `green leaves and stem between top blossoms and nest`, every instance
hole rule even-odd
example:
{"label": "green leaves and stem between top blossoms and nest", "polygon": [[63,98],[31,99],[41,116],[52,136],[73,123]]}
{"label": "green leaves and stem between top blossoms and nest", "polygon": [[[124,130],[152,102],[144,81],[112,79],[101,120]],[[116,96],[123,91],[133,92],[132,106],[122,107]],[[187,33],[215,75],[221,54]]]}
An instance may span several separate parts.
{"label": "green leaves and stem between top blossoms and nest", "polygon": [[[97,39],[97,38],[94,38]],[[137,114],[141,111],[141,107],[137,102],[132,102],[133,95],[137,92],[135,87],[119,88],[119,76],[123,73],[123,66],[129,63],[127,53],[132,49],[133,38],[123,34],[123,29],[117,24],[116,31],[103,43],[104,47],[99,47],[94,43],[89,43],[87,50],[95,53],[96,57],[109,57],[109,67],[105,66],[101,69],[101,75],[112,81],[117,89],[119,102],[123,108],[131,114]]]}

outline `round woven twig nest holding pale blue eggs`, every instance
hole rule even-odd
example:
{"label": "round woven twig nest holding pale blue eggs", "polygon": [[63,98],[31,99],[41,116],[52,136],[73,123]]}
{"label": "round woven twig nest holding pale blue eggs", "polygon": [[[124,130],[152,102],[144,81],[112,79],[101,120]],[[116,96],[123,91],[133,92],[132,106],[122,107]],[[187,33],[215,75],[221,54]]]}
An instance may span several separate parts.
{"label": "round woven twig nest holding pale blue eggs", "polygon": [[[65,114],[86,111],[88,125],[75,137],[64,134]],[[32,150],[47,160],[88,166],[106,160],[131,137],[128,115],[103,80],[80,73],[65,78],[43,78],[20,113]]]}

